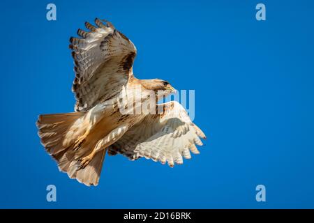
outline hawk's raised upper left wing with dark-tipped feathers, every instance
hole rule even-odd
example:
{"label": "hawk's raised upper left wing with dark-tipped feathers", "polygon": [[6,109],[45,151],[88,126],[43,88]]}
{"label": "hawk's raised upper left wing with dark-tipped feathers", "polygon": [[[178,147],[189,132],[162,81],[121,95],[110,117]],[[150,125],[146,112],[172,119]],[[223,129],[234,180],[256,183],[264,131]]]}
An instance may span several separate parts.
{"label": "hawk's raised upper left wing with dark-tipped feathers", "polygon": [[87,111],[98,102],[120,93],[133,76],[136,55],[133,43],[114,26],[96,18],[93,26],[85,22],[89,31],[78,29],[81,38],[70,38],[70,49],[75,63],[75,111]]}

